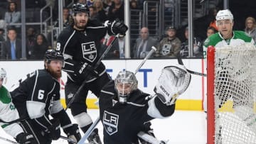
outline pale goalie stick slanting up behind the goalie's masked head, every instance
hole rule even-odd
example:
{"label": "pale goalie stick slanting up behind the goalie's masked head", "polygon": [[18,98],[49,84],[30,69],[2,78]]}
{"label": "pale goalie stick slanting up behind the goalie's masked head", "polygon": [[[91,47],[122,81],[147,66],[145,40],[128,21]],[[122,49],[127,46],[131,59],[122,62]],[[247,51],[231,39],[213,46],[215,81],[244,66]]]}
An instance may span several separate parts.
{"label": "pale goalie stick slanting up behind the goalie's masked head", "polygon": [[[142,67],[142,65],[144,65],[144,63],[146,62],[146,60],[149,59],[149,57],[156,51],[156,47],[152,46],[151,50],[149,51],[149,53],[146,55],[146,57],[144,58],[144,60],[142,60],[142,62],[140,63],[140,65],[137,67],[137,69],[135,70],[134,74],[137,74],[137,72],[139,71],[139,69]],[[90,126],[90,128],[86,131],[85,135],[82,136],[82,138],[79,140],[78,144],[83,144],[85,143],[85,140],[87,140],[88,136],[92,133],[92,130],[95,128],[95,126],[97,126],[97,123],[100,122],[100,116],[97,117],[96,121],[94,123],[92,123],[92,126]]]}

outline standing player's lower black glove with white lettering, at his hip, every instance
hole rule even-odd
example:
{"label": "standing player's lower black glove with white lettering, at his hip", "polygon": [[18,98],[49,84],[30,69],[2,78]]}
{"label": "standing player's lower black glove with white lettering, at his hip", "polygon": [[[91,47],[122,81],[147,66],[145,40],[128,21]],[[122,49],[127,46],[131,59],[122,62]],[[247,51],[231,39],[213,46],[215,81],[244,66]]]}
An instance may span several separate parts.
{"label": "standing player's lower black glove with white lettering, at his hip", "polygon": [[86,62],[80,63],[77,70],[75,71],[76,71],[76,74],[78,74],[78,77],[86,81],[97,78],[99,76],[97,71]]}

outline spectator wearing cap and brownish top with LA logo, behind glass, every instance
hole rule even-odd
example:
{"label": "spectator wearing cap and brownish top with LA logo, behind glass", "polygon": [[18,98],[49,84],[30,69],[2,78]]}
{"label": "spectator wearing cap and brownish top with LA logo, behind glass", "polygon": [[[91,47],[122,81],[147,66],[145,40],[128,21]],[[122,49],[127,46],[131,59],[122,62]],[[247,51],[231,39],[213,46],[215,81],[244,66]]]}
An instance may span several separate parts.
{"label": "spectator wearing cap and brownish top with LA logo, behind glass", "polygon": [[181,50],[181,40],[176,37],[176,28],[168,27],[166,34],[166,38],[163,38],[157,47],[155,57],[177,57]]}

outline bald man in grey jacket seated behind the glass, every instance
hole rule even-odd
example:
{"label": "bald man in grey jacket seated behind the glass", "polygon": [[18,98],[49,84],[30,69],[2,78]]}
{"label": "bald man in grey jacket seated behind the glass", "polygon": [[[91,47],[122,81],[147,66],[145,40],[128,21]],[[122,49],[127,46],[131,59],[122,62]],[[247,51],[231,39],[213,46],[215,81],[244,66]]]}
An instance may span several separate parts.
{"label": "bald man in grey jacket seated behind the glass", "polygon": [[140,31],[140,38],[137,38],[133,47],[134,58],[144,58],[151,50],[151,47],[156,45],[158,41],[149,36],[149,28],[142,28]]}

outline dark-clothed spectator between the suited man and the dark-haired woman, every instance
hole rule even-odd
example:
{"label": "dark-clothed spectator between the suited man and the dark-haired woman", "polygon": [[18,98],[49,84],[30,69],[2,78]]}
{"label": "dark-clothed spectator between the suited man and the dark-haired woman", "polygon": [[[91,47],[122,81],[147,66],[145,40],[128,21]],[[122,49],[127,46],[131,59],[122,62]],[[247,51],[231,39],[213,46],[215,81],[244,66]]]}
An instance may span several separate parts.
{"label": "dark-clothed spectator between the suited man and the dark-haired woman", "polygon": [[36,33],[35,33],[35,29],[30,27],[28,28],[28,30],[26,31],[27,35],[26,35],[26,52],[27,52],[27,58],[31,57],[31,51],[36,43]]}

